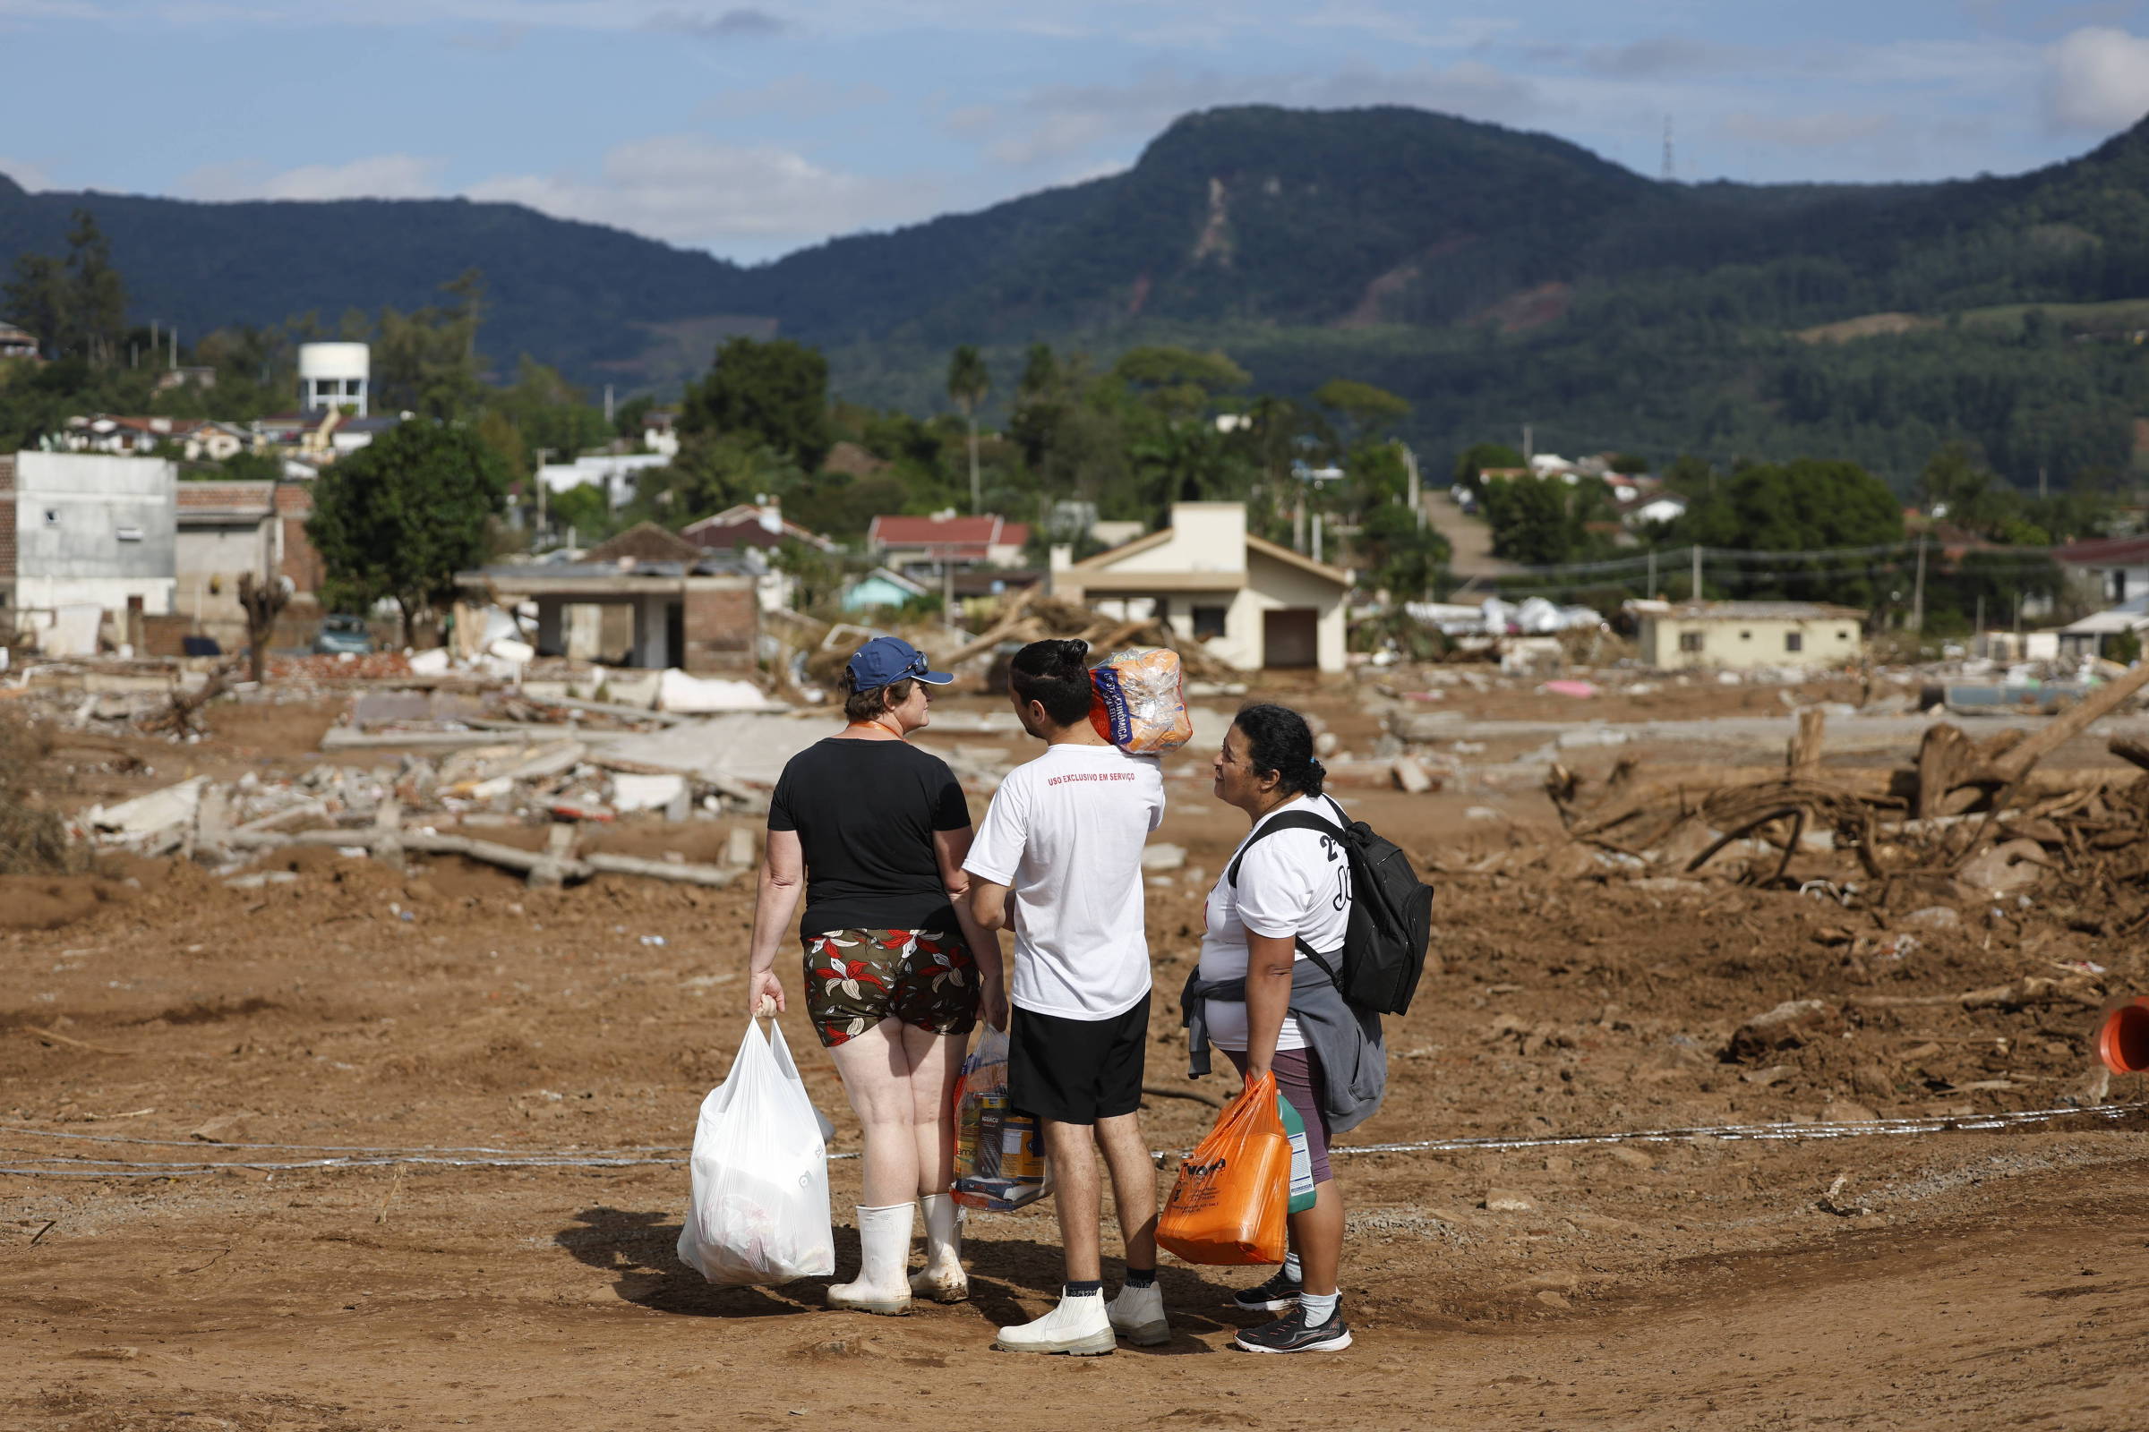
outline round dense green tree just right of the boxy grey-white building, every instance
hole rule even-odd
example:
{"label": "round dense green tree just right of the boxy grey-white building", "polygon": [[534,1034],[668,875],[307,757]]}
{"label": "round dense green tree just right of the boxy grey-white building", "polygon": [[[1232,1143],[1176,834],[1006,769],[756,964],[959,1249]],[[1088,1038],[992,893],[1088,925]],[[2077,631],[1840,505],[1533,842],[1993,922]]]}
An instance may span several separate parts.
{"label": "round dense green tree just right of the boxy grey-white building", "polygon": [[389,599],[404,642],[417,618],[456,597],[456,573],[484,560],[507,496],[501,455],[466,427],[400,423],[322,468],[305,535],[329,571],[329,603]]}

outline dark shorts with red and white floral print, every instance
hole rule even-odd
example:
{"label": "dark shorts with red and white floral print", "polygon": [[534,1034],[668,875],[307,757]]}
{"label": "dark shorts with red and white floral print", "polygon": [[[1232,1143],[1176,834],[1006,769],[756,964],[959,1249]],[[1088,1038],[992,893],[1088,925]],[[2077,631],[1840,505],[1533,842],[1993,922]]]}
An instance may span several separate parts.
{"label": "dark shorts with red and white floral print", "polygon": [[834,1048],[881,1020],[935,1035],[978,1024],[978,962],[939,930],[830,930],[806,936],[806,1018]]}

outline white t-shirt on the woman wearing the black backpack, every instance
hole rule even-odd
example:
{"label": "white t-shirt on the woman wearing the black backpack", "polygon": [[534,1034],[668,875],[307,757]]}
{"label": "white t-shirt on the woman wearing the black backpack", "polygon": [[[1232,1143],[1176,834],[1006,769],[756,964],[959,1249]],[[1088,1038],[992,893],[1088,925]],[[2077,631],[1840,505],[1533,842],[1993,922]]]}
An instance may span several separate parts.
{"label": "white t-shirt on the woman wearing the black backpack", "polygon": [[[1337,822],[1337,809],[1324,797],[1298,797],[1261,816],[1253,831],[1283,812],[1311,812]],[[1253,831],[1238,844],[1246,850]],[[1238,852],[1234,852],[1236,859]],[[1322,831],[1277,831],[1246,850],[1238,867],[1238,889],[1231,887],[1231,861],[1225,861],[1208,902],[1208,930],[1201,932],[1201,979],[1244,979],[1246,932],[1264,936],[1302,936],[1322,951],[1343,949],[1350,927],[1350,859],[1332,835]],[[1294,960],[1307,951],[1294,949]],[[1208,1003],[1210,1043],[1221,1050],[1246,1050],[1246,1005]],[[1307,1048],[1298,1020],[1283,1015],[1279,1050]]]}

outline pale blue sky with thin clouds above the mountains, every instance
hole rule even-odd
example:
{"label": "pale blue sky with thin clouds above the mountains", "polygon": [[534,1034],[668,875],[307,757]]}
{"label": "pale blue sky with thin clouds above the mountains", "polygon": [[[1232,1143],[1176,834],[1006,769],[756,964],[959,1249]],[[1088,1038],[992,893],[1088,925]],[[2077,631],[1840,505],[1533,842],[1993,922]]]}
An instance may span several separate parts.
{"label": "pale blue sky with thin clouds above the mountains", "polygon": [[0,172],[466,193],[739,260],[1408,103],[1681,178],[2007,174],[2149,112],[2149,0],[0,0]]}

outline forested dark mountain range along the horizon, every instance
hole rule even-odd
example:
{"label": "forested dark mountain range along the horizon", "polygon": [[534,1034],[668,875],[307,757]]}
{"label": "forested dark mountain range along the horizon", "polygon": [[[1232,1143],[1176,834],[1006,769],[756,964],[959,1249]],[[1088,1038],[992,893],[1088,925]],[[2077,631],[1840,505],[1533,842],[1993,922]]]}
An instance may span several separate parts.
{"label": "forested dark mountain range along the horizon", "polygon": [[[1006,395],[1032,341],[1223,348],[1266,391],[1395,389],[1429,444],[1515,436],[1715,457],[1947,438],[2018,481],[2125,466],[2149,414],[2149,122],[2020,176],[1681,185],[1405,107],[1188,114],[1126,172],[761,266],[514,204],[26,193],[0,266],[112,238],[138,320],[196,335],[419,307],[486,275],[484,350],[673,389],[731,333],[830,350],[851,397],[933,408],[954,344]],[[2029,318],[2044,309],[2042,318]]]}

